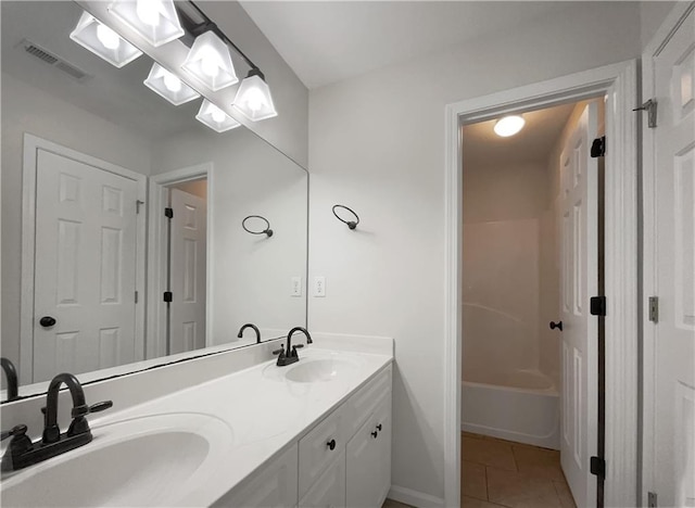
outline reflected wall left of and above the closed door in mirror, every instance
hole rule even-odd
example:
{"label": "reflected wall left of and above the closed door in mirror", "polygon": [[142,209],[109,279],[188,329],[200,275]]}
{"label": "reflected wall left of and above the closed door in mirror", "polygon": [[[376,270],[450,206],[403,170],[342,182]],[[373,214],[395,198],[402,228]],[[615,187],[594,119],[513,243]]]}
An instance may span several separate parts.
{"label": "reflected wall left of and above the closed door in mirror", "polygon": [[121,126],[2,74],[2,356],[18,366],[23,136],[29,132],[141,174],[150,147]]}

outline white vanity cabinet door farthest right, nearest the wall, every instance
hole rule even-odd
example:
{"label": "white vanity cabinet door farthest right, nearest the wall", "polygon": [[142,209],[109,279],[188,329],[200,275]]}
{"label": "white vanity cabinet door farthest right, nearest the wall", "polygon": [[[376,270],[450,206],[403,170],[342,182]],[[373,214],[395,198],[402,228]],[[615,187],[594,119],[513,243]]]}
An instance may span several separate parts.
{"label": "white vanity cabinet door farthest right, nearest the wall", "polygon": [[[379,430],[381,426],[381,430]],[[383,503],[391,485],[391,397],[379,403],[348,443],[345,504],[374,508]]]}

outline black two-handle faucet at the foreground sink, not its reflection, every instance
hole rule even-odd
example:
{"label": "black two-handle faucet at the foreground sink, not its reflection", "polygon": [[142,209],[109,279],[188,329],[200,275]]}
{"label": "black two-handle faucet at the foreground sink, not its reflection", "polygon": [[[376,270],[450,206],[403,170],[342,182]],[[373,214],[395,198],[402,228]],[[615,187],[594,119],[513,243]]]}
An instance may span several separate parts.
{"label": "black two-handle faucet at the foreground sink, not its reflection", "polygon": [[[58,427],[58,395],[63,383],[73,398],[73,421],[67,432],[61,434]],[[26,435],[26,426],[16,426],[12,431],[3,432],[2,439],[12,436],[12,441],[2,456],[2,470],[16,471],[86,445],[92,440],[92,435],[85,417],[111,406],[111,401],[88,406],[83,386],[75,376],[66,372],[55,376],[48,386],[46,407],[41,408],[45,417],[42,439],[33,443]]]}

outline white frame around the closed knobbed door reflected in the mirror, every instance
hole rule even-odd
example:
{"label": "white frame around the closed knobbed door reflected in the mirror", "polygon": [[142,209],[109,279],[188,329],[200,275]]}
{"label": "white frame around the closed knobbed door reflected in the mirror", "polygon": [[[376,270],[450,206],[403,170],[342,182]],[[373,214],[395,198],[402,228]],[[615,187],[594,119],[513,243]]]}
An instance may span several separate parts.
{"label": "white frame around the closed knobbed door reflected in the mirror", "polygon": [[[77,150],[63,147],[29,132],[24,132],[22,162],[22,274],[20,299],[20,382],[34,383],[34,259],[36,256],[36,185],[38,150],[71,158],[78,163],[94,166],[100,170],[112,173],[138,186],[138,201],[144,203],[147,194],[147,176],[125,167],[102,161]],[[146,274],[146,214],[137,215],[136,225],[136,283],[138,294],[144,295]],[[30,262],[29,262],[30,259]],[[135,361],[144,358],[146,309],[144,305],[136,305],[135,315]]]}

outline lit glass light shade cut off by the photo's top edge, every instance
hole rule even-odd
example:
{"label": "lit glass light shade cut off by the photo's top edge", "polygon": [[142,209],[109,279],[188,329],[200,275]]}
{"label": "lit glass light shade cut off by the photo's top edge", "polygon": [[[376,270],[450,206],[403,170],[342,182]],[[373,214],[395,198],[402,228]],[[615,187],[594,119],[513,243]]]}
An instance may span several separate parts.
{"label": "lit glass light shade cut off by the photo's top edge", "polygon": [[109,12],[154,47],[184,35],[174,0],[114,0]]}

